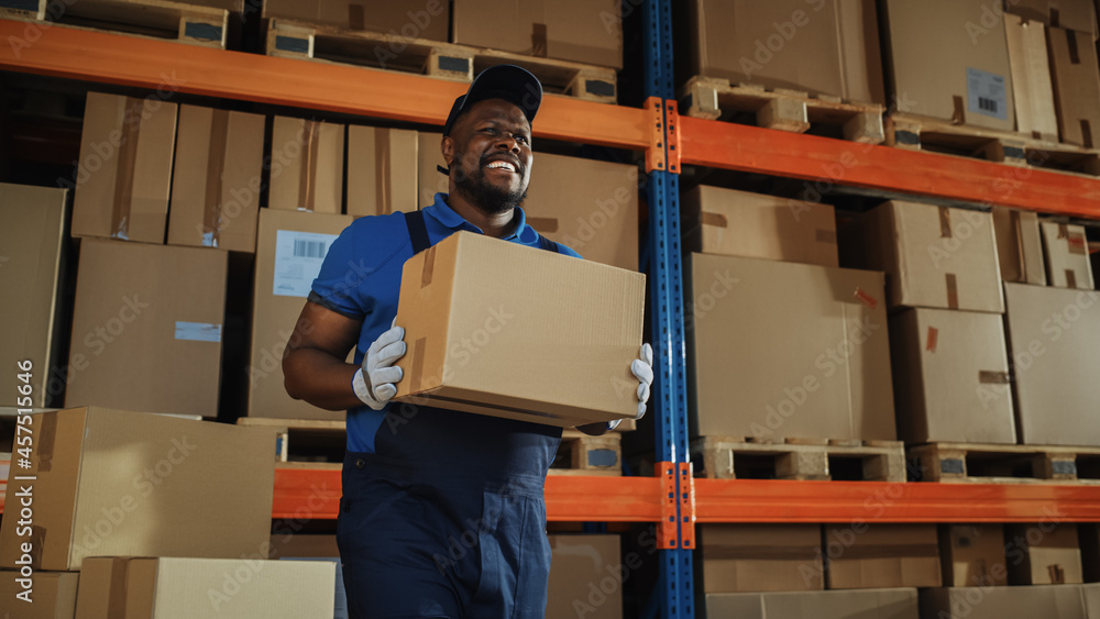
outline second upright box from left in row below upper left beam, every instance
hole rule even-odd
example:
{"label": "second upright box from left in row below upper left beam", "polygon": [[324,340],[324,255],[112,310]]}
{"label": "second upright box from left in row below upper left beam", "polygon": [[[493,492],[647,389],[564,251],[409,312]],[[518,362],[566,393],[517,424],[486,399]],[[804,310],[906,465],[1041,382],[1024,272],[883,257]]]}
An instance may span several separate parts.
{"label": "second upright box from left in row below upper left beam", "polygon": [[264,117],[179,109],[168,244],[256,251]]}

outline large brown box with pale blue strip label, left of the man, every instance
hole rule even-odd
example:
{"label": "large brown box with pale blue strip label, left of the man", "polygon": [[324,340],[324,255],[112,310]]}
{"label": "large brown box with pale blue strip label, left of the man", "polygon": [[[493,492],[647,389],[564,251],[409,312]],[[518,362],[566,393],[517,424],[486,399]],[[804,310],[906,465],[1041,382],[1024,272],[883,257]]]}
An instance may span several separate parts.
{"label": "large brown box with pale blue strip label, left of the man", "polygon": [[85,240],[66,406],[216,417],[227,257]]}

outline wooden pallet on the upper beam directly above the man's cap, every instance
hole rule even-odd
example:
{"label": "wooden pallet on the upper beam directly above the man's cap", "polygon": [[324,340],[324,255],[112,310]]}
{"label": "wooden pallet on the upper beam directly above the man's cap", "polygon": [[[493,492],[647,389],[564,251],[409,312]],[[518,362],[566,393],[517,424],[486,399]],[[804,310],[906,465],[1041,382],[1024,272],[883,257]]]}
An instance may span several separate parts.
{"label": "wooden pallet on the upper beam directly above the man's cap", "polygon": [[547,92],[601,103],[616,102],[616,71],[613,68],[287,20],[271,19],[265,23],[268,56],[356,65],[465,82],[472,81],[485,67],[507,63],[535,74]]}

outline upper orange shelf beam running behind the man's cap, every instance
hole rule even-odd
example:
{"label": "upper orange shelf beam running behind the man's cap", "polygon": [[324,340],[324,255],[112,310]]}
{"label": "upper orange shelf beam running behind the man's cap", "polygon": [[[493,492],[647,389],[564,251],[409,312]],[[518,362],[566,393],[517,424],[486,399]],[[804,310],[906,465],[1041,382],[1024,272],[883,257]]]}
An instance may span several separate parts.
{"label": "upper orange shelf beam running behind the man's cap", "polygon": [[[426,124],[442,125],[466,90],[418,75],[13,20],[0,20],[0,69]],[[649,147],[649,117],[552,96],[535,135],[640,151]]]}

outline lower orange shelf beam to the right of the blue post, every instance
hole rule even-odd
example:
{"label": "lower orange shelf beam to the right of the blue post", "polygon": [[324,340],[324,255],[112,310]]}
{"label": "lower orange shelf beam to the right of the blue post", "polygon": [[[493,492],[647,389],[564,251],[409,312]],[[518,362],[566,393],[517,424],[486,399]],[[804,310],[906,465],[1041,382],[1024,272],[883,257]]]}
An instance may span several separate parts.
{"label": "lower orange shelf beam to the right of the blue post", "polygon": [[696,522],[1100,521],[1100,486],[695,479]]}

